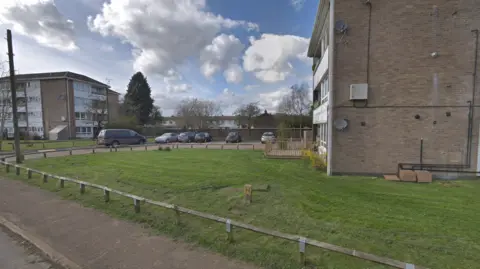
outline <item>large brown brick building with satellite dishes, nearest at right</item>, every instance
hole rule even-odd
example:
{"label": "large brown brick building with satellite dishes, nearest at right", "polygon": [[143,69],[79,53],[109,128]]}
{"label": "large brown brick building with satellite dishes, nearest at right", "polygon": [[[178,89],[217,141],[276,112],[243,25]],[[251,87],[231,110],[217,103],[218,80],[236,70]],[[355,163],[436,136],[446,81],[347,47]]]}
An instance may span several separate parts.
{"label": "large brown brick building with satellite dishes, nearest at right", "polygon": [[320,1],[308,56],[329,174],[480,171],[479,14],[472,0]]}

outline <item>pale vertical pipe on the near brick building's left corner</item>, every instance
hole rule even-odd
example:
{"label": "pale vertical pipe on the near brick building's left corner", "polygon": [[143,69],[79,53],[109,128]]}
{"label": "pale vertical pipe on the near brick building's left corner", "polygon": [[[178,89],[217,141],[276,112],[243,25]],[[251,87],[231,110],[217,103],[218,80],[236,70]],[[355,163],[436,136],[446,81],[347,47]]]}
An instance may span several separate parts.
{"label": "pale vertical pipe on the near brick building's left corner", "polygon": [[327,118],[327,175],[332,175],[332,142],[333,142],[333,106],[334,99],[334,60],[335,60],[335,0],[330,0],[330,22],[328,34],[330,45],[328,46],[328,118]]}

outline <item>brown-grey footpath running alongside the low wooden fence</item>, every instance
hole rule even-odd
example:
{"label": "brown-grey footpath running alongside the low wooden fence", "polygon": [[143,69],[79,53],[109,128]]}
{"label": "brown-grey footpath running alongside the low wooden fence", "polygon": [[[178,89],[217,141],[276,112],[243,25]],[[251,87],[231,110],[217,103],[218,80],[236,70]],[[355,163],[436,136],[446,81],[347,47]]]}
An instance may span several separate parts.
{"label": "brown-grey footpath running alongside the low wooden fence", "polygon": [[82,269],[255,268],[168,237],[152,236],[140,225],[17,180],[0,179],[0,218]]}

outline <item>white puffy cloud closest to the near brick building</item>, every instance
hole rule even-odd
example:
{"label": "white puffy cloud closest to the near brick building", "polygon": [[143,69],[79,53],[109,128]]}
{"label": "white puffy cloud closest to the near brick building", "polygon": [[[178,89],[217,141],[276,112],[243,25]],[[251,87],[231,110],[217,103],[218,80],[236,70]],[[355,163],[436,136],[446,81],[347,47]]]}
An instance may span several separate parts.
{"label": "white puffy cloud closest to the near brick building", "polygon": [[243,56],[243,68],[263,82],[285,80],[293,71],[293,60],[304,61],[309,39],[293,35],[263,34],[250,37]]}

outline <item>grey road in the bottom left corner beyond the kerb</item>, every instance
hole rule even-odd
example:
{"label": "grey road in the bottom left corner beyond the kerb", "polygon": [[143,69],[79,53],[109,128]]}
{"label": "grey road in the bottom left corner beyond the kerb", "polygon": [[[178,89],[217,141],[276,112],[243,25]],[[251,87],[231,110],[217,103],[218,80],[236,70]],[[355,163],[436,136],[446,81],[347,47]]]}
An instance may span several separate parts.
{"label": "grey road in the bottom left corner beyond the kerb", "polygon": [[58,269],[42,258],[29,243],[10,235],[0,226],[0,268],[1,269]]}

